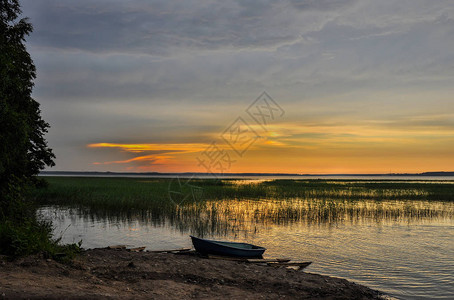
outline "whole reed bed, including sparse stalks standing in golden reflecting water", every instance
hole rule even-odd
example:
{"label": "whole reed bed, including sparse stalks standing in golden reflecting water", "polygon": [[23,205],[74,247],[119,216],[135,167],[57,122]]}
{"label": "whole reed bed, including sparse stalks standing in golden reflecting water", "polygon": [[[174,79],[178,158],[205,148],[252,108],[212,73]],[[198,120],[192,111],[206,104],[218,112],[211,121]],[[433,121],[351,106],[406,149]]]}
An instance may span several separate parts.
{"label": "whole reed bed, including sparse stalks standing in golden reflecting water", "polygon": [[[452,182],[47,177],[30,193],[41,205],[87,218],[169,224],[198,235],[255,232],[268,225],[454,218]],[[193,190],[197,196],[194,197]],[[169,191],[176,191],[169,198]],[[189,195],[189,196],[188,196]],[[177,196],[180,196],[178,198]]]}

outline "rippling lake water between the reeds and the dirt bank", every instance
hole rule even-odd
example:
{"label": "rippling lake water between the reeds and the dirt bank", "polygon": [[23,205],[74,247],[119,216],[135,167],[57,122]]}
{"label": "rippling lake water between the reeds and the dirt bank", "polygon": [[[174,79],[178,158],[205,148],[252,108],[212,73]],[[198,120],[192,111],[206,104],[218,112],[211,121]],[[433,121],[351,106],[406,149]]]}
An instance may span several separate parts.
{"label": "rippling lake water between the reeds and the dirt bank", "polygon": [[282,201],[225,200],[196,216],[172,217],[58,207],[39,212],[53,220],[56,237],[82,240],[84,248],[190,248],[189,234],[246,241],[265,246],[265,257],[312,261],[307,272],[345,278],[399,299],[454,299],[454,203],[313,201],[295,199],[284,207]]}

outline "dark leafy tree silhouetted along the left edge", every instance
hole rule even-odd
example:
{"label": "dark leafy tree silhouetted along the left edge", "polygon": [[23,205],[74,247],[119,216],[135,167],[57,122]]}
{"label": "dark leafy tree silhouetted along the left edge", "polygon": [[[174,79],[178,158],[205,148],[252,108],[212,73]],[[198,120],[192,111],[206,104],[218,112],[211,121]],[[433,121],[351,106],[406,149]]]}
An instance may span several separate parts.
{"label": "dark leafy tree silhouetted along the left edge", "polygon": [[33,27],[20,14],[17,0],[0,0],[0,218],[55,157],[44,138],[49,125],[31,97],[36,69],[24,43]]}

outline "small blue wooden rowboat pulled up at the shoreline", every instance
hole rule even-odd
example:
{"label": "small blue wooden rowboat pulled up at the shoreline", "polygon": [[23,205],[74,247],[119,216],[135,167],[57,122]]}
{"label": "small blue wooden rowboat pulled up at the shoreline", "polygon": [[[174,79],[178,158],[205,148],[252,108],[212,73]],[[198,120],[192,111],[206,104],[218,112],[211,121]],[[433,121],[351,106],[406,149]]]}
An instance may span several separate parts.
{"label": "small blue wooden rowboat pulled up at the shoreline", "polygon": [[222,242],[190,236],[197,252],[236,257],[261,257],[265,248],[247,243]]}

